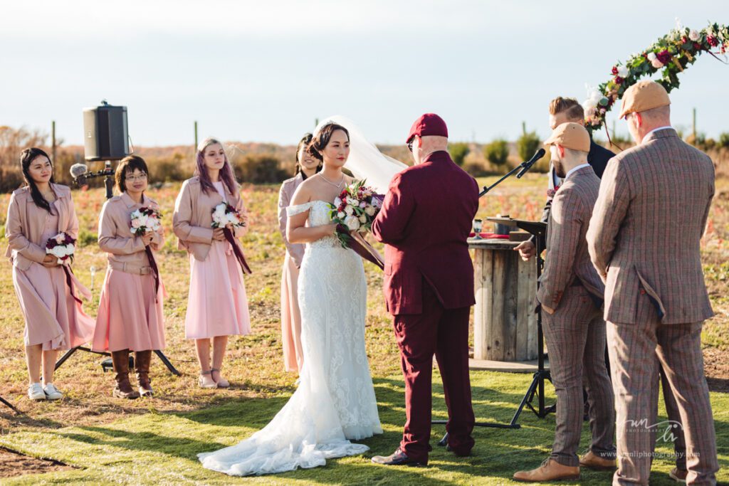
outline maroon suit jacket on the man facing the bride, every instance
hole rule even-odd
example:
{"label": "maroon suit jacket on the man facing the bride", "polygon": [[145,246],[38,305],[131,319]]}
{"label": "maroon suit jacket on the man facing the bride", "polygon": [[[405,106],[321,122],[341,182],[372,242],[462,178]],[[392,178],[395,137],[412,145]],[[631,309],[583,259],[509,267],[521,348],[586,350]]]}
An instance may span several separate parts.
{"label": "maroon suit jacket on the man facing the bride", "polygon": [[394,176],[372,225],[386,243],[383,290],[391,314],[422,313],[424,280],[446,309],[474,304],[466,240],[477,210],[478,184],[448,152]]}

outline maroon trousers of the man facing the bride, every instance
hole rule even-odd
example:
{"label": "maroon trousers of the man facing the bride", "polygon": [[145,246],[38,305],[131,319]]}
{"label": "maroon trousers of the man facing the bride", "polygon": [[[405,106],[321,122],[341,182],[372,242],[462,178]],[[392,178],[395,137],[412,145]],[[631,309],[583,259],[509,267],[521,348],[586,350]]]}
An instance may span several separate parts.
{"label": "maroon trousers of the man facing the bride", "polygon": [[428,283],[423,282],[423,313],[394,316],[395,337],[405,377],[405,431],[400,449],[408,458],[428,463],[432,411],[433,355],[443,377],[448,407],[448,445],[467,454],[473,407],[468,372],[468,321],[470,307],[444,309]]}

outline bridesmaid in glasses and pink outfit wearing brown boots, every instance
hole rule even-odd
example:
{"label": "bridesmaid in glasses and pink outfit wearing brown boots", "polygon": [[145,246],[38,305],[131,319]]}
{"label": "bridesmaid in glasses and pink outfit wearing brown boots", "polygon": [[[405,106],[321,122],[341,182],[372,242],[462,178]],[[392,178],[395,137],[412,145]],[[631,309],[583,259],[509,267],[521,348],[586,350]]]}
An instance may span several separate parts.
{"label": "bridesmaid in glasses and pink outfit wearing brown boots", "polygon": [[[93,349],[110,351],[116,373],[113,396],[136,399],[152,396],[149,364],[152,350],[165,347],[163,285],[154,251],[164,243],[163,229],[143,235],[131,232],[131,215],[139,208],[159,211],[144,191],[148,184],[147,163],[137,155],[117,165],[115,179],[121,195],[104,203],[98,223],[98,245],[107,254],[104,286],[98,303]],[[152,258],[147,254],[152,252]],[[129,381],[129,352],[134,351],[138,391]]]}

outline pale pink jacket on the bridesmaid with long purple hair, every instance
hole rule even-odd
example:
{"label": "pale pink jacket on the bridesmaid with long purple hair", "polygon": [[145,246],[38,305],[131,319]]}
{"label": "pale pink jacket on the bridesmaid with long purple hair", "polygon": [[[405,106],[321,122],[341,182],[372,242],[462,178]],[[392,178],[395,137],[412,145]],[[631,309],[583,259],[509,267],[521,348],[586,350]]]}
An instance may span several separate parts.
{"label": "pale pink jacket on the bridesmaid with long purple hair", "polygon": [[[245,212],[241,195],[236,190],[231,194],[225,184],[225,199],[227,203],[234,206],[241,213]],[[172,216],[172,227],[178,238],[178,248],[186,249],[188,253],[195,256],[200,262],[208,257],[210,246],[213,242],[213,209],[222,203],[222,197],[217,191],[212,190],[207,194],[203,192],[198,176],[187,179],[182,183],[177,200],[175,201],[175,212]],[[248,232],[248,226],[235,228],[235,238],[241,238]],[[238,246],[241,243],[236,241]],[[241,247],[241,251],[243,248]]]}

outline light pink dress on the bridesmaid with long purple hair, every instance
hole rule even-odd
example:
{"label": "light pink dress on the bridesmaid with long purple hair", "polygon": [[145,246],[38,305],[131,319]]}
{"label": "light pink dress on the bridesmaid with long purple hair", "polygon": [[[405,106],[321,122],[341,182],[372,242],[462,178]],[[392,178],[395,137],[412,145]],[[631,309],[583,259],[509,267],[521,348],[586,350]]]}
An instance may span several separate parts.
{"label": "light pink dress on the bridesmaid with long purple hair", "polygon": [[[222,182],[214,186],[225,197]],[[203,262],[190,254],[185,337],[204,339],[250,332],[251,318],[241,266],[230,243],[213,240]]]}

